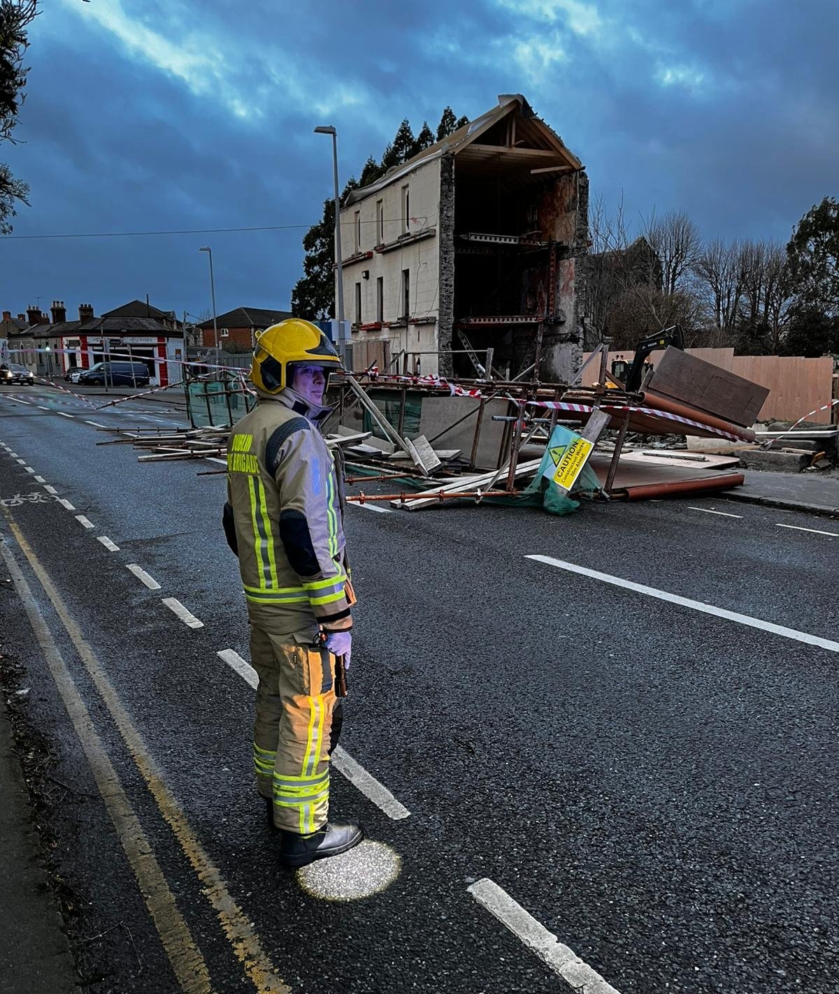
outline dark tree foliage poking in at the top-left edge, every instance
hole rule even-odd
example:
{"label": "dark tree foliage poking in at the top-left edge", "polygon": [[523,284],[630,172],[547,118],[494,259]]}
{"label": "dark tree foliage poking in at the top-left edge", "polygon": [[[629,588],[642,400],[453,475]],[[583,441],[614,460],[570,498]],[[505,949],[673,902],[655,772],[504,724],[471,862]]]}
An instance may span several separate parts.
{"label": "dark tree foliage poking in at the top-left edge", "polygon": [[[12,131],[24,101],[23,60],[29,48],[27,28],[38,15],[38,0],[0,0],[0,141],[14,143]],[[0,235],[12,231],[9,218],[17,202],[28,204],[29,186],[0,163]]]}

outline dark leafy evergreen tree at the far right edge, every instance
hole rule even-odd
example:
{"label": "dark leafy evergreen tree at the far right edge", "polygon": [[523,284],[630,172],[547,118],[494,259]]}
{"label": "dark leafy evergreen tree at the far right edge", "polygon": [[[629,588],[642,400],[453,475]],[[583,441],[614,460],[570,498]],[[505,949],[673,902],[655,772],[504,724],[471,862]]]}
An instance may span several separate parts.
{"label": "dark leafy evergreen tree at the far right edge", "polygon": [[839,204],[833,197],[798,222],[786,254],[799,310],[839,314]]}

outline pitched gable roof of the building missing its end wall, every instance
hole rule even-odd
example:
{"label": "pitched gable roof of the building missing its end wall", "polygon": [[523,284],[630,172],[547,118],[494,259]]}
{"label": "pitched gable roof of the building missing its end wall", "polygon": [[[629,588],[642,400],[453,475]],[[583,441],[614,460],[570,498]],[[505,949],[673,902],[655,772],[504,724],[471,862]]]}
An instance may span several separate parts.
{"label": "pitched gable roof of the building missing its end wall", "polygon": [[[407,162],[389,169],[384,176],[374,183],[370,183],[365,187],[359,187],[356,190],[350,190],[341,206],[349,207],[351,204],[369,197],[370,194],[377,193],[425,162],[431,162],[432,159],[440,158],[443,155],[457,155],[459,152],[465,151],[470,145],[480,144],[478,139],[482,135],[487,134],[494,125],[512,114],[516,115],[517,120],[524,122],[524,133],[528,138],[536,142],[538,146],[537,151],[542,154],[545,151],[554,152],[555,156],[561,159],[568,169],[581,170],[584,168],[580,160],[566,148],[559,135],[545,124],[540,117],[536,116],[522,93],[501,93],[499,95],[498,106],[492,107],[486,113],[481,114],[480,117],[476,117],[475,120],[464,124],[463,127],[459,127],[446,138],[436,141],[433,145],[429,145],[428,148],[418,152],[412,158],[408,159]],[[484,146],[481,147],[483,149]],[[520,149],[506,145],[497,145],[490,149],[488,146],[488,153],[496,156],[500,152],[504,153],[506,151],[519,153]]]}

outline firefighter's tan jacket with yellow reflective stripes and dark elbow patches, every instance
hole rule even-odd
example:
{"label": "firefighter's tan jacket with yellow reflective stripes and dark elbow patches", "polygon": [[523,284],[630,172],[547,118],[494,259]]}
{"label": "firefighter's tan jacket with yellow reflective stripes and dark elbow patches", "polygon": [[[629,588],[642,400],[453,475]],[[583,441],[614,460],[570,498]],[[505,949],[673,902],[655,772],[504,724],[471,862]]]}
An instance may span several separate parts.
{"label": "firefighter's tan jacket with yellow reflective stripes and dark elbow patches", "polygon": [[339,474],[317,420],[326,408],[270,395],[231,431],[228,500],[251,622],[275,635],[352,625]]}

